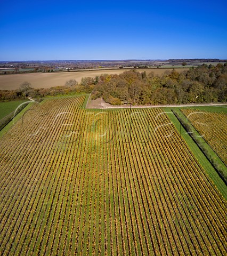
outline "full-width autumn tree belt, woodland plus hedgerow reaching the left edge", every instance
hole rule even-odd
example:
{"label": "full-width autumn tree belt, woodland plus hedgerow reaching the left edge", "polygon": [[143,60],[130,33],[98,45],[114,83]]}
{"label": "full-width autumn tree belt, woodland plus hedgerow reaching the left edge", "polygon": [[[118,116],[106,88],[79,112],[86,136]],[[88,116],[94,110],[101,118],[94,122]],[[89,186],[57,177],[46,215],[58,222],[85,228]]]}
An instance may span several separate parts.
{"label": "full-width autumn tree belt, woodland plus hedgerow reaching the left edge", "polygon": [[204,64],[182,73],[169,69],[161,76],[152,71],[140,73],[133,69],[120,75],[84,77],[79,84],[71,79],[64,86],[51,89],[33,89],[31,84],[25,82],[19,85],[18,90],[0,91],[0,100],[75,93],[92,93],[92,99],[102,97],[112,105],[226,102],[227,63],[216,66]]}

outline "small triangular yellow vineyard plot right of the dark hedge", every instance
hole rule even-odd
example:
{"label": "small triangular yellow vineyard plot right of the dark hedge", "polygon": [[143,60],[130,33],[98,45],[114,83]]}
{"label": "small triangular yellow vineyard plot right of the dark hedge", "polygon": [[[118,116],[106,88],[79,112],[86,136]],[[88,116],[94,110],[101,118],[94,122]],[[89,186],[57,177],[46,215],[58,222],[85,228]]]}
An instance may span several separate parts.
{"label": "small triangular yellow vineyard plot right of the dark hedge", "polygon": [[227,115],[192,109],[181,111],[227,166]]}

